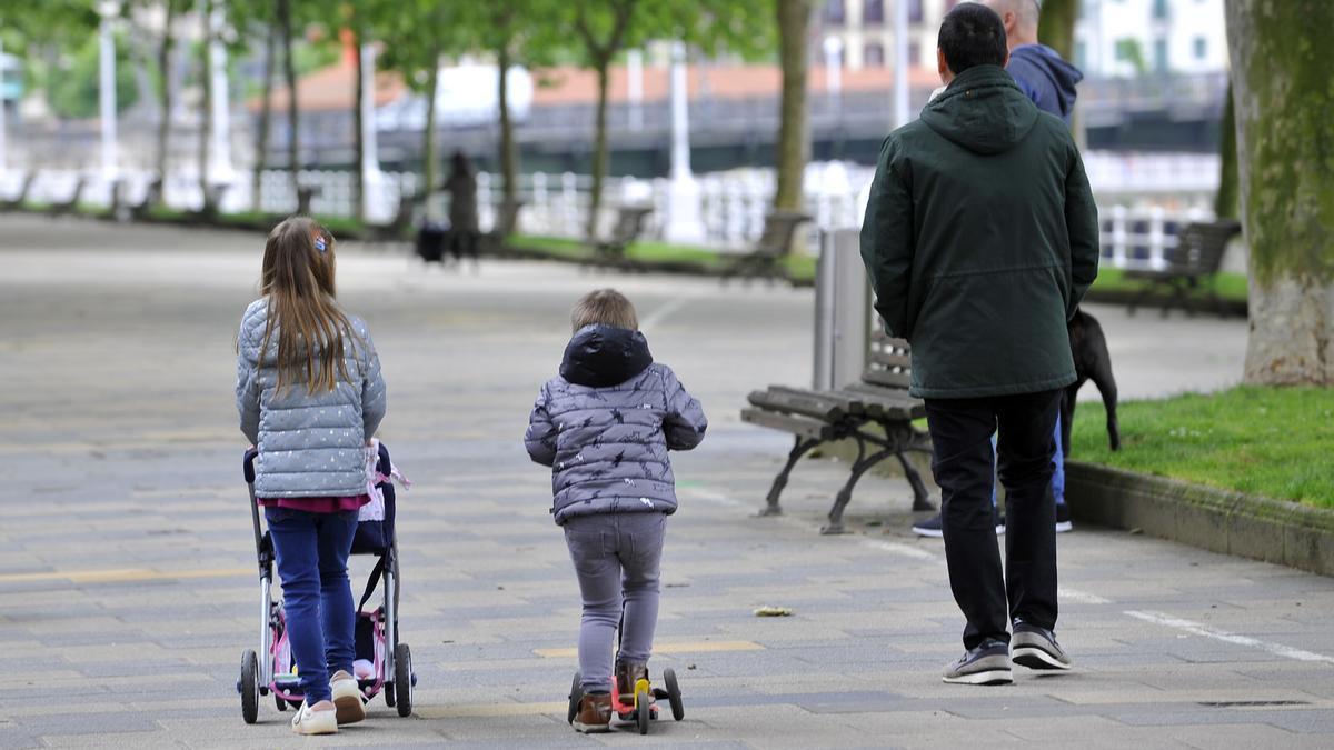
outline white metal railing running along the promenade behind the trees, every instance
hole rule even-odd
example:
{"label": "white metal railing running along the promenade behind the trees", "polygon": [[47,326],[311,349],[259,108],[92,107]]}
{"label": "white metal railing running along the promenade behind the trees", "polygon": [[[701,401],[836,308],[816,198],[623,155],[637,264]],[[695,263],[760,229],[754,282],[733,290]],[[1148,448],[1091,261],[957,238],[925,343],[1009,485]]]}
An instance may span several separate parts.
{"label": "white metal railing running along the promenade behind the trees", "polygon": [[[1179,230],[1195,220],[1213,216],[1211,203],[1217,183],[1217,157],[1199,155],[1086,155],[1086,168],[1095,185],[1101,214],[1102,252],[1109,266],[1118,268],[1161,267],[1167,250],[1175,246]],[[810,230],[832,231],[859,227],[868,198],[874,169],[842,163],[810,164],[806,171],[806,212],[814,218]],[[36,203],[67,202],[84,176],[80,203],[105,207],[111,203],[111,183],[100,172],[75,169],[41,169],[32,181],[27,199]],[[311,210],[329,216],[356,214],[352,172],[303,171],[300,183],[316,188]],[[153,179],[148,171],[127,171],[125,199],[139,203]],[[0,199],[12,198],[23,175],[9,171],[0,175]],[[763,231],[775,190],[772,169],[736,169],[700,175],[700,218],[706,244],[722,251],[743,251]],[[586,228],[592,179],[575,173],[530,173],[519,179],[518,194],[523,202],[519,228],[526,234],[580,238]],[[1167,187],[1169,184],[1175,187]],[[370,215],[387,222],[395,215],[399,199],[420,192],[420,177],[412,172],[382,172],[370,185]],[[608,177],[603,188],[599,227],[607,231],[622,206],[651,206],[648,238],[663,236],[671,181],[662,177]],[[249,211],[252,175],[236,173],[220,199],[220,211]],[[259,208],[285,214],[297,208],[297,196],[288,172],[265,171],[259,181]],[[165,204],[172,208],[196,210],[203,192],[196,175],[172,173],[164,184]],[[502,180],[490,173],[478,175],[478,208],[483,230],[495,226],[502,203]],[[444,216],[447,199],[428,196],[427,215]],[[808,248],[816,247],[814,242]]]}

